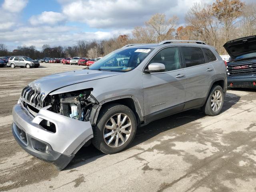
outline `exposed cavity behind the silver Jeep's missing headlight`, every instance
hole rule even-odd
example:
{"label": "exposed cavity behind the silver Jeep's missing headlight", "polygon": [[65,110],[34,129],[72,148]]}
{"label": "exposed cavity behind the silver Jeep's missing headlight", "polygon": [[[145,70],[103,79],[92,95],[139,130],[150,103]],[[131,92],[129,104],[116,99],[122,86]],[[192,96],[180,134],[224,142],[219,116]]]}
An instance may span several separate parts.
{"label": "exposed cavity behind the silver Jeep's missing headlight", "polygon": [[51,105],[48,110],[72,119],[89,121],[92,107],[97,104],[91,95],[92,89],[78,90],[58,95],[48,95],[45,105]]}

